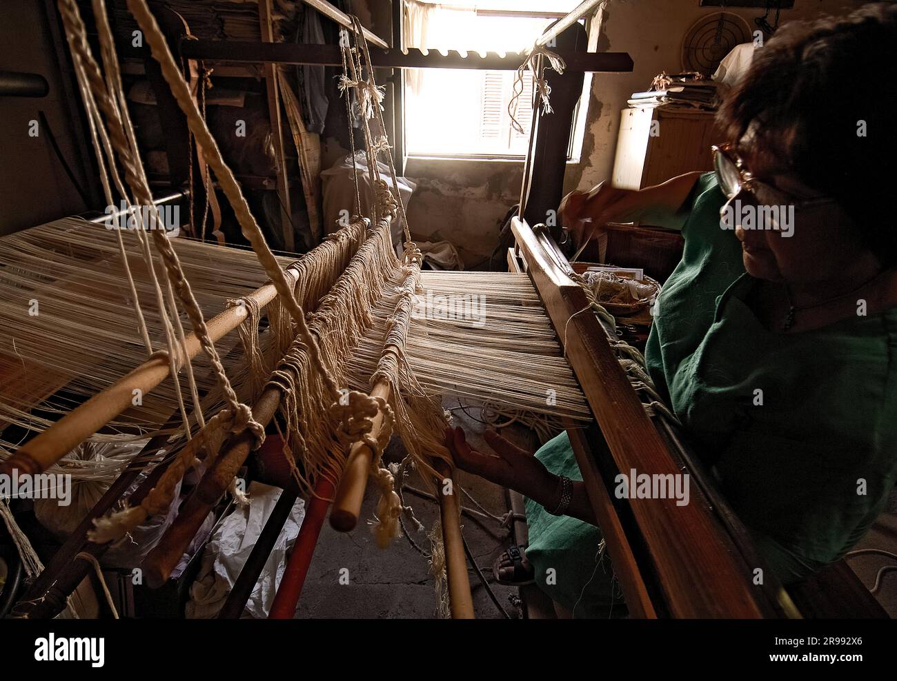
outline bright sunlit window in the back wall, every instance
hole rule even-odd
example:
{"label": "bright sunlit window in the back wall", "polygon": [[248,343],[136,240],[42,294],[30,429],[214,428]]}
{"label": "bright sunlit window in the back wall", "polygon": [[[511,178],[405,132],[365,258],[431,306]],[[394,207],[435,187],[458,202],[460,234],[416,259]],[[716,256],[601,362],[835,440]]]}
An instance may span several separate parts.
{"label": "bright sunlit window in the back wall", "polygon": [[[549,24],[576,4],[577,0],[447,0],[447,4],[405,0],[405,46],[518,52],[532,47]],[[588,88],[588,74],[586,80]],[[520,95],[509,112],[515,85]],[[406,71],[406,152],[452,158],[526,156],[532,97],[529,71],[522,82],[517,82],[515,71]],[[523,133],[513,125],[512,115]],[[579,118],[584,116],[578,111]],[[579,123],[575,120],[575,130],[584,127]],[[581,130],[579,137],[581,146]],[[579,146],[573,145],[577,153]]]}

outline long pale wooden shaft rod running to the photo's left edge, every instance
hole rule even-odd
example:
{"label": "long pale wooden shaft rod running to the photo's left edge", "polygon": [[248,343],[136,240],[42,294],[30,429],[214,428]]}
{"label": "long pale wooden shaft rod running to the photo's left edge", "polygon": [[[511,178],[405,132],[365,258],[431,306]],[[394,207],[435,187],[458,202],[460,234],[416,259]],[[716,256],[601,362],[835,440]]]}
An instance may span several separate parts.
{"label": "long pale wooden shaft rod running to the photo's left edge", "polygon": [[[295,284],[296,274],[292,270],[284,272],[288,282]],[[266,284],[247,297],[253,298],[259,307],[265,307],[277,295],[274,284]],[[229,307],[209,320],[207,327],[213,341],[221,340],[233,331],[248,316],[248,306]],[[196,334],[191,332],[186,338],[187,357],[194,358],[201,351]],[[135,390],[142,393],[152,391],[170,375],[169,361],[165,357],[148,359],[129,374],[118,379],[106,390],[98,392],[90,400],[83,402],[65,414],[51,427],[32,437],[9,459],[0,463],[0,475],[12,475],[18,470],[20,475],[36,475],[47,470],[78,444],[106,426],[125,409],[132,405]]]}

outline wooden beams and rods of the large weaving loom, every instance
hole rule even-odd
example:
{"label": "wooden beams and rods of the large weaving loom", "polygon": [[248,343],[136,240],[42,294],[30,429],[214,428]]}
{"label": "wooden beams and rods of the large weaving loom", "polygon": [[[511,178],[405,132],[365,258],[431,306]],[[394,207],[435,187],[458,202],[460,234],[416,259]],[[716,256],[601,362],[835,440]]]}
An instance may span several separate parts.
{"label": "wooden beams and rods of the large weaving loom", "polygon": [[[578,27],[561,38],[577,43],[581,40]],[[581,31],[581,30],[580,30]],[[570,79],[549,74],[553,86],[553,116],[536,116],[534,142],[527,159],[527,173],[524,184],[524,201],[521,214],[526,216],[544,215],[547,208],[556,207],[560,201],[561,185],[557,177],[562,173],[553,172],[562,167],[563,156],[559,149],[566,149],[566,141],[558,142],[570,134],[570,116],[579,90],[576,77]],[[581,89],[581,75],[579,76]],[[568,102],[565,104],[564,102]],[[570,103],[572,102],[572,103]],[[589,497],[596,511],[597,519],[604,530],[608,550],[614,561],[614,569],[623,587],[627,606],[633,616],[782,616],[796,613],[784,591],[769,578],[762,586],[753,585],[753,569],[760,565],[745,539],[744,531],[736,519],[728,513],[712,485],[701,475],[700,466],[692,461],[684,447],[679,444],[675,433],[663,423],[652,423],[632,391],[627,377],[623,374],[606,338],[606,330],[595,315],[578,315],[588,306],[582,289],[569,276],[569,265],[553,246],[551,238],[544,230],[529,228],[526,220],[515,220],[513,225],[517,238],[517,256],[522,269],[544,303],[553,329],[564,343],[566,358],[579,379],[588,407],[596,418],[596,423],[583,431],[570,427],[570,439],[577,455],[580,470],[588,487]],[[351,257],[351,239],[346,240],[346,248],[338,257],[347,262]],[[214,248],[214,246],[208,246]],[[457,274],[458,277],[465,276]],[[332,282],[305,282],[298,291],[305,301],[319,299]],[[273,287],[262,285],[250,293],[260,306],[274,300]],[[246,308],[238,306],[215,316],[209,323],[216,340],[234,330],[246,317]],[[196,340],[192,351],[196,352]],[[13,369],[12,363],[6,368]],[[150,360],[138,367],[120,382],[85,403],[81,412],[75,409],[67,420],[40,435],[37,444],[32,440],[12,459],[0,464],[0,473],[17,469],[22,472],[37,472],[46,468],[52,456],[41,461],[39,453],[48,450],[43,445],[49,440],[51,449],[65,453],[83,437],[103,427],[110,418],[120,413],[130,404],[134,386],[145,392],[152,391],[168,375],[168,366],[160,360]],[[65,384],[59,376],[48,377],[51,387]],[[374,391],[383,394],[387,388],[375,386]],[[256,418],[266,423],[274,417],[274,411],[282,395],[276,388],[267,388],[253,405]],[[76,413],[78,412],[78,413]],[[84,414],[91,418],[83,419]],[[70,427],[73,423],[77,427]],[[572,425],[571,425],[572,426]],[[56,439],[54,439],[56,438]],[[166,440],[159,435],[146,445],[147,452],[161,447]],[[238,435],[224,444],[222,453],[213,468],[203,478],[193,496],[181,510],[161,547],[154,551],[145,567],[151,582],[160,583],[170,573],[172,560],[182,553],[183,547],[196,534],[199,523],[209,509],[218,502],[228,481],[248,457],[251,438]],[[34,453],[33,456],[29,452]],[[303,523],[290,565],[284,576],[283,586],[275,600],[272,616],[292,616],[296,599],[299,598],[301,582],[308,570],[311,550],[318,531],[325,519],[327,503],[323,499],[336,494],[335,508],[331,512],[331,522],[337,529],[351,529],[357,522],[361,506],[361,496],[367,471],[370,467],[370,448],[356,445],[345,472],[344,480],[337,490],[321,482],[318,496],[312,498],[309,512]],[[154,482],[165,470],[167,461],[157,465],[129,497],[132,504],[139,503],[152,488]],[[671,500],[615,499],[610,493],[615,471],[635,468],[651,473],[679,473],[684,467],[692,476],[700,478],[701,494],[692,495],[689,506],[678,507]],[[105,513],[136,480],[141,469],[129,466],[109,488],[81,526],[65,545],[57,552],[44,573],[32,583],[26,595],[22,614],[29,616],[52,616],[65,605],[65,596],[74,590],[90,569],[86,561],[75,561],[79,553],[86,551],[100,556],[103,545],[84,543],[84,535],[91,526],[91,520]],[[440,471],[443,472],[443,471]],[[448,474],[448,471],[445,471]],[[282,503],[272,514],[266,532],[258,543],[258,555],[266,555],[266,539],[273,539],[279,532],[278,522],[283,523],[296,491],[287,490]],[[467,584],[466,562],[460,546],[460,530],[457,522],[447,522],[457,517],[457,501],[453,496],[440,499],[443,514],[443,532],[448,556],[448,582],[451,592],[452,614],[472,616],[472,605]],[[270,545],[267,546],[270,550]],[[256,558],[254,560],[254,557]],[[263,560],[257,560],[256,552],[250,556],[241,574],[239,583],[255,583]],[[255,572],[255,573],[254,573]],[[254,574],[253,574],[254,573]],[[239,616],[242,603],[239,589],[235,588],[233,598],[225,606],[223,615]],[[244,597],[248,591],[243,590]],[[245,598],[243,599],[245,602]],[[22,612],[22,611],[20,611]]]}

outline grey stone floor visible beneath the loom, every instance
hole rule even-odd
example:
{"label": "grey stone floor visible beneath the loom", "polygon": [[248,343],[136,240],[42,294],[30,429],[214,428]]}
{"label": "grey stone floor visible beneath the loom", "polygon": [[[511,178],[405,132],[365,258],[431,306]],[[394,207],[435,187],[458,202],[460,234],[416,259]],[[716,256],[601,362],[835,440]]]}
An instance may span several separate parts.
{"label": "grey stone floor visible beneath the loom", "polygon": [[[457,409],[454,412],[457,425],[464,427],[468,442],[476,449],[486,448],[480,434],[483,424]],[[395,440],[387,450],[389,461],[401,458],[404,449]],[[492,483],[458,473],[457,483],[475,497],[489,512],[497,516],[508,511],[509,505],[505,491]],[[411,487],[423,489],[422,479],[413,473],[407,478]],[[466,508],[476,509],[475,504],[463,496]],[[414,496],[405,491],[405,503],[414,507],[414,513],[423,523],[427,531],[439,518],[439,506],[435,501]],[[372,486],[368,487],[364,499],[361,517],[370,519],[377,504],[377,493]],[[430,540],[426,532],[411,532],[414,540],[428,554],[431,550]],[[509,545],[509,530],[502,528],[492,518],[465,513],[462,515],[464,536],[475,557],[476,563],[483,571],[483,576],[490,582],[501,607],[509,616],[518,617],[517,589],[504,587],[492,579],[492,563],[496,556]],[[341,574],[348,570],[348,584],[341,583]],[[498,608],[492,603],[482,582],[472,569],[468,569],[471,589],[474,596],[474,608],[477,618],[488,619],[502,617]],[[342,582],[346,580],[343,579]],[[437,614],[436,592],[429,571],[429,560],[415,549],[408,538],[397,539],[391,547],[380,549],[370,532],[370,528],[361,522],[353,532],[346,534],[332,530],[325,524],[318,540],[318,548],[309,568],[309,576],[302,591],[296,616],[313,617],[434,617]]]}

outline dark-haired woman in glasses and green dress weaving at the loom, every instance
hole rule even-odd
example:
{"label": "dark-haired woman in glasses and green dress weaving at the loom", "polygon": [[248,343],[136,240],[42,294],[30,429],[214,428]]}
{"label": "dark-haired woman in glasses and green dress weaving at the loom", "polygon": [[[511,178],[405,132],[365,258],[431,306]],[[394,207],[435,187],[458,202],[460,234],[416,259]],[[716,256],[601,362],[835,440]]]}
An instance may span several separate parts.
{"label": "dark-haired woman in glasses and green dress weaving at the loom", "polygon": [[[682,229],[649,372],[786,583],[843,556],[897,476],[895,102],[878,76],[894,44],[893,5],[790,23],[720,109],[715,172],[602,184],[562,206],[580,238],[606,222]],[[606,608],[600,530],[582,483],[564,479],[579,477],[567,436],[535,457],[495,434],[497,456],[459,429],[447,440],[462,470],[528,497],[529,547],[497,577],[535,579],[577,615]]]}

